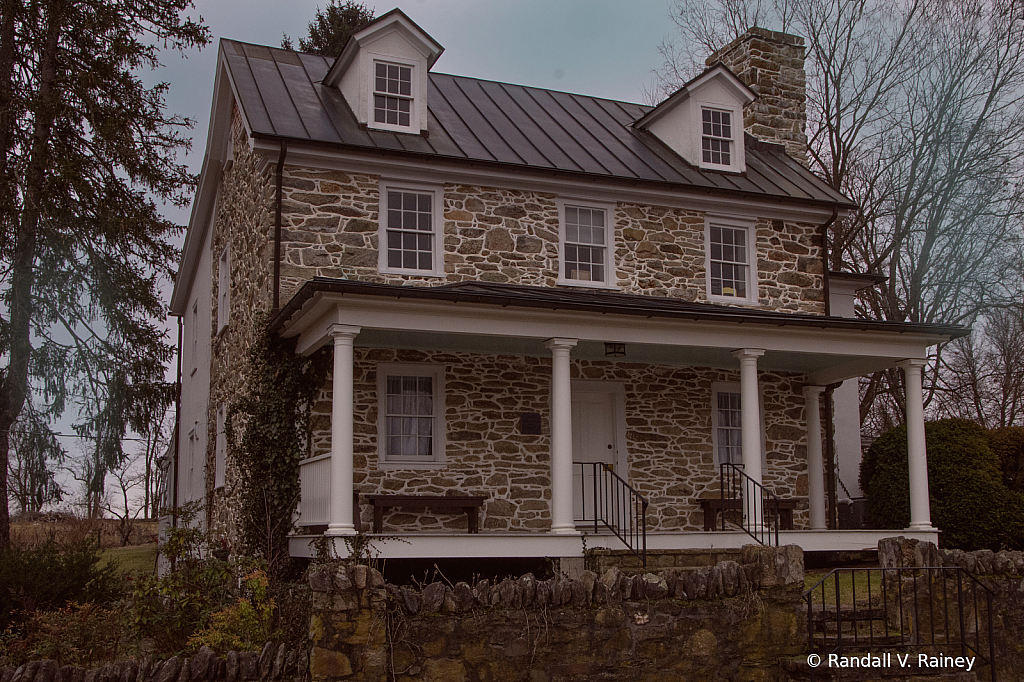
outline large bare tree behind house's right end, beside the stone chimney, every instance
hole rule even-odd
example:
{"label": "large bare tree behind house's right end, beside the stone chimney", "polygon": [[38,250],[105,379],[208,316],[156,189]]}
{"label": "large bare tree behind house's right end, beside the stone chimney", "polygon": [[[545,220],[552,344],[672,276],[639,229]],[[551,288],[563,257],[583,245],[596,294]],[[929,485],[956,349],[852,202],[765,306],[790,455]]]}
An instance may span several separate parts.
{"label": "large bare tree behind house's right end, beside the stone chimney", "polygon": [[[865,293],[861,314],[971,324],[1022,299],[1024,6],[675,0],[672,7],[696,47],[663,50],[664,91],[692,73],[695,49],[707,54],[754,24],[807,40],[811,168],[861,207],[831,227],[828,266],[889,278]],[[942,351],[929,400],[946,367]],[[902,421],[899,372],[873,375],[863,388],[867,424]]]}

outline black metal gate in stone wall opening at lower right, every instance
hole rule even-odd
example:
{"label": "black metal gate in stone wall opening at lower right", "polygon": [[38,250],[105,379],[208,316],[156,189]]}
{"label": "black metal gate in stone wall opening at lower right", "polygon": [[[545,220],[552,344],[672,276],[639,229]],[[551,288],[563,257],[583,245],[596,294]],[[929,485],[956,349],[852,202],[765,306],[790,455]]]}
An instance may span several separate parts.
{"label": "black metal gate in stone wall opening at lower right", "polygon": [[975,656],[995,682],[993,596],[958,566],[836,568],[804,593],[808,643],[823,664],[833,653],[889,653],[908,673],[914,653]]}

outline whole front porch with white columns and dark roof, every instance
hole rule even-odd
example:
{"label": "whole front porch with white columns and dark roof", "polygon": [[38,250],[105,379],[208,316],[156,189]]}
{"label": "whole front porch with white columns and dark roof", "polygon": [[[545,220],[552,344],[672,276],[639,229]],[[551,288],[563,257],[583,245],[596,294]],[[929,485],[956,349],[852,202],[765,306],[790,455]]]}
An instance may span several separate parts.
{"label": "whole front porch with white columns and dark roof", "polygon": [[[458,515],[406,516],[372,541],[382,557],[582,556],[581,461],[602,463],[649,501],[652,550],[751,542],[700,530],[699,499],[719,494],[721,461],[800,501],[797,529],[780,531],[781,544],[860,550],[893,535],[937,540],[920,386],[928,346],[950,331],[495,287],[314,281],[272,323],[300,352],[333,346],[298,523],[326,527],[340,553],[340,538],[355,532],[354,489],[487,498],[479,535],[464,535]],[[908,386],[910,527],[825,530],[818,396],[897,365]],[[730,409],[715,402],[720,393],[735,398],[734,423],[717,422]],[[392,414],[392,398],[439,409]],[[399,417],[420,426],[391,426]],[[752,520],[761,525],[756,513]],[[309,552],[311,535],[292,541],[294,554]],[[588,531],[587,547],[622,545]]]}

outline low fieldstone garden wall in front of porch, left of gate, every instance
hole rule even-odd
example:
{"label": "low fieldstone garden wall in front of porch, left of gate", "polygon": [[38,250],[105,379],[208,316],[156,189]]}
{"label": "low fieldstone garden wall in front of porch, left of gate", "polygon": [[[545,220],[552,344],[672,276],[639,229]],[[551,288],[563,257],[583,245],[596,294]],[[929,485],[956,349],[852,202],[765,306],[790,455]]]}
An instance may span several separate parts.
{"label": "low fieldstone garden wall in front of porch, left of gate", "polygon": [[745,548],[737,561],[663,574],[492,585],[386,585],[327,564],[313,590],[313,682],[781,680],[806,647],[803,553]]}

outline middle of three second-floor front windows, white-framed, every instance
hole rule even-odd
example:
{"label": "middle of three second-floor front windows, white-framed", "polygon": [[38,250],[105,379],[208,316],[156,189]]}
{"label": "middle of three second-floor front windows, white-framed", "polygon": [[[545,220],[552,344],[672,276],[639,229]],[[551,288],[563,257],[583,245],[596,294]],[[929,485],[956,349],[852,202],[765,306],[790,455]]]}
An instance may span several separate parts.
{"label": "middle of three second-floor front windows, white-framed", "polygon": [[558,283],[583,287],[614,287],[614,207],[558,202],[561,217],[561,262]]}

